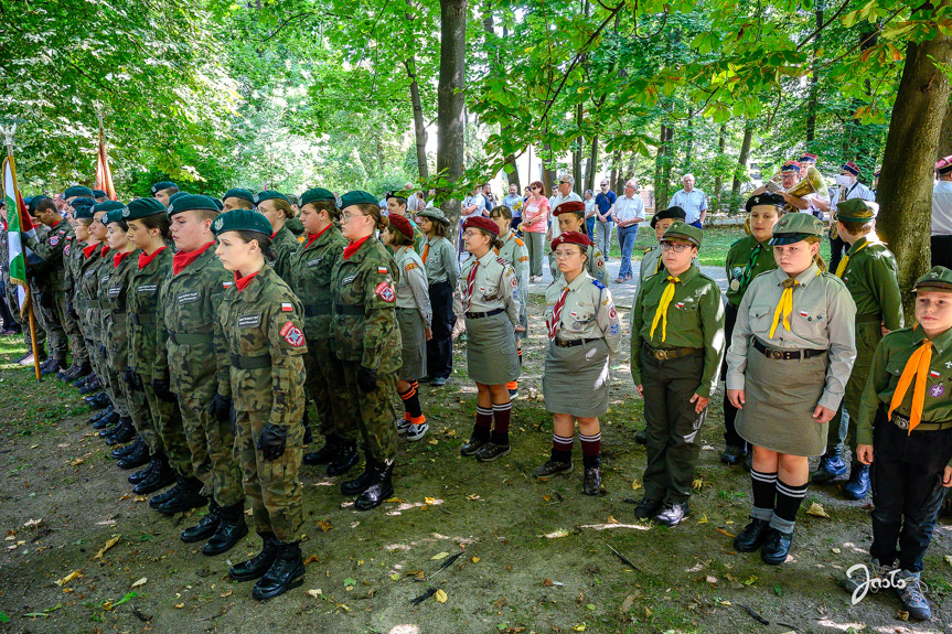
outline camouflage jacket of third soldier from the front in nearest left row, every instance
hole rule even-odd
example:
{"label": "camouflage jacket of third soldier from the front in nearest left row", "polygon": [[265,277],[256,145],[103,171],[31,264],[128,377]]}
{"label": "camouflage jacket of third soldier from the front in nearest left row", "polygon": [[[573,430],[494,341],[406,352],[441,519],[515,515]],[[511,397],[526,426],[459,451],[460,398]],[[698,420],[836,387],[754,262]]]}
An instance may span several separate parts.
{"label": "camouflage jacket of third soldier from the front in nearest left row", "polygon": [[[127,327],[129,329],[129,367],[140,374],[156,374],[159,358],[159,288],[172,269],[172,249],[162,247],[145,268],[138,260],[129,279],[126,295]],[[141,256],[140,256],[141,257]]]}

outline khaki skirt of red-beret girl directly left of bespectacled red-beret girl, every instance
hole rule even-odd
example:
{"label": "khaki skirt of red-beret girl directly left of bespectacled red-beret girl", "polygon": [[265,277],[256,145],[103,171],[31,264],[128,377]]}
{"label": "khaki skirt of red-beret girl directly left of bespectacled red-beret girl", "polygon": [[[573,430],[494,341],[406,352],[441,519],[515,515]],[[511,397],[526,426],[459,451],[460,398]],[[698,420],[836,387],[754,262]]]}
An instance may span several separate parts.
{"label": "khaki skirt of red-beret girl directly left of bespectacled red-beret girl", "polygon": [[515,333],[505,312],[467,318],[467,373],[483,385],[505,385],[518,378]]}

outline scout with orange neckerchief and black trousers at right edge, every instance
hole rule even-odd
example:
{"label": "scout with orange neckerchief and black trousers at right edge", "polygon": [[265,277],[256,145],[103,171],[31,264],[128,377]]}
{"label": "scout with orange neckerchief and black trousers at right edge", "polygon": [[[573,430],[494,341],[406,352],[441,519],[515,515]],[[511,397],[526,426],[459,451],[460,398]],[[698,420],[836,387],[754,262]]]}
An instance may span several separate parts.
{"label": "scout with orange neckerchief and black trousers at right edge", "polygon": [[[913,290],[916,325],[887,334],[876,347],[855,416],[856,452],[873,465],[869,577],[889,579],[902,610],[928,621],[932,611],[919,577],[952,487],[952,271],[934,267]],[[862,577],[847,578],[847,588],[856,590]]]}

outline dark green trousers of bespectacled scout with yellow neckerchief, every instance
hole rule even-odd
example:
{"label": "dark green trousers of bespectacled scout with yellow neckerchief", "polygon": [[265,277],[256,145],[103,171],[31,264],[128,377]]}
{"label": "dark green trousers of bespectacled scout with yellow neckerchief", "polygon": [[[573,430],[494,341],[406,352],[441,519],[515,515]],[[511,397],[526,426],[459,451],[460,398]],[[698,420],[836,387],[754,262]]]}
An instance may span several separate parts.
{"label": "dark green trousers of bespectacled scout with yellow neckerchief", "polygon": [[707,409],[697,413],[691,397],[700,385],[704,354],[659,361],[641,350],[648,464],[644,496],[684,503],[691,497],[700,447],[695,442]]}

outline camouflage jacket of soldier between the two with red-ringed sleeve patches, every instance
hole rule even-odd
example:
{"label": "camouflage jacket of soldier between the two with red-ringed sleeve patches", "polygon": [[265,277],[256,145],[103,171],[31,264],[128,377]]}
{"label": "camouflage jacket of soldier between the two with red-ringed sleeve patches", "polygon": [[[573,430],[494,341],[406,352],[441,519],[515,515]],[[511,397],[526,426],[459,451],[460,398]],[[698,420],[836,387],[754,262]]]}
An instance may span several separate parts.
{"label": "camouflage jacket of soldier between the two with red-ringed sleeve patches", "polygon": [[304,303],[304,334],[308,341],[331,339],[331,276],[343,258],[347,240],[336,225],[331,225],[310,245],[307,243],[291,257],[288,283]]}

